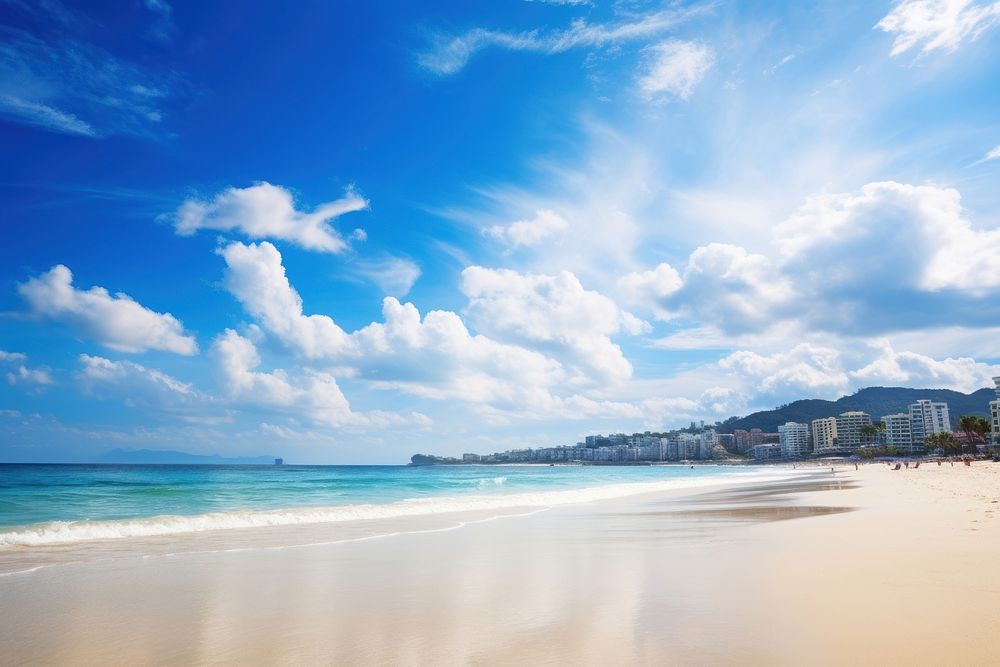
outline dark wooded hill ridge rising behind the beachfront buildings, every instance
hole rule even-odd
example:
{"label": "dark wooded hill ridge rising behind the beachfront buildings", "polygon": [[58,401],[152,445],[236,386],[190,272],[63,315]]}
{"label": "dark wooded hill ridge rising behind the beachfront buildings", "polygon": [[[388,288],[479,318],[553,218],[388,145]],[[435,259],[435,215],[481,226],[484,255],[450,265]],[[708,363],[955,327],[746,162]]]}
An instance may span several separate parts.
{"label": "dark wooded hill ridge rising behind the beachfront buildings", "polygon": [[943,401],[948,404],[952,426],[962,415],[989,417],[989,402],[996,400],[993,389],[980,389],[971,394],[963,394],[950,389],[909,389],[906,387],[867,387],[850,396],[836,401],[808,398],[783,405],[774,410],[754,412],[735,421],[727,421],[720,431],[732,433],[741,428],[749,431],[759,428],[765,433],[775,433],[779,424],[800,422],[808,424],[813,419],[836,417],[842,412],[861,410],[873,420],[897,412],[907,412],[909,405],[921,399]]}

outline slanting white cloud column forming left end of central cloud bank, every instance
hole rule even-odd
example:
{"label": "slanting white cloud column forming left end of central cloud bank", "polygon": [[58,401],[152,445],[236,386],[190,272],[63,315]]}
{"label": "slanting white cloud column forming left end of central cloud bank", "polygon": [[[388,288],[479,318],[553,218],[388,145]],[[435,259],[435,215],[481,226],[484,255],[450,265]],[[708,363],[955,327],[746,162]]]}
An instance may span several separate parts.
{"label": "slanting white cloud column forming left end of central cloud bank", "polygon": [[326,315],[303,315],[302,297],[288,282],[281,253],[268,242],[230,243],[220,249],[226,260],[226,289],[265,329],[308,358],[343,354],[350,338]]}

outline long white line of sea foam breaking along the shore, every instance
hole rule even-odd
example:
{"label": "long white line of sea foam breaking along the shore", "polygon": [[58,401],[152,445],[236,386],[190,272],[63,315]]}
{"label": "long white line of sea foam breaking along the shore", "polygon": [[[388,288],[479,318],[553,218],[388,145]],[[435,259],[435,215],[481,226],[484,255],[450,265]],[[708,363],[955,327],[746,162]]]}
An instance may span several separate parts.
{"label": "long white line of sea foam breaking along the shore", "polygon": [[[791,474],[791,471],[784,471],[781,474],[776,473],[777,471],[774,473],[755,473],[750,475],[726,474],[686,479],[674,478],[649,482],[609,484],[582,489],[535,491],[505,495],[415,498],[386,504],[357,504],[280,510],[242,510],[213,512],[194,516],[161,515],[144,519],[123,519],[117,521],[51,521],[0,533],[0,549],[19,546],[31,547],[48,544],[68,544],[88,540],[155,537],[210,530],[328,524],[345,521],[426,516],[449,512],[488,511],[515,507],[553,507],[557,505],[622,498],[656,491],[698,488],[721,483],[743,484],[764,479],[787,477]],[[506,478],[496,477],[490,483],[491,485],[502,485],[503,481],[499,480],[506,480]]]}

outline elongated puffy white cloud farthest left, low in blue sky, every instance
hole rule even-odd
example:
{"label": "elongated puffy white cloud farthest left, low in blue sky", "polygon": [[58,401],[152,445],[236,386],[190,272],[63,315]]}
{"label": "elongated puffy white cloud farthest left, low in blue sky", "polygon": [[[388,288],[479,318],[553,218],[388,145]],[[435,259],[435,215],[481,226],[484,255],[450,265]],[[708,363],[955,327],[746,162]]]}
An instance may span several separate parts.
{"label": "elongated puffy white cloud farthest left, low in blue sky", "polygon": [[169,313],[157,313],[119,292],[103,287],[73,287],[73,274],[62,264],[18,286],[33,314],[62,322],[78,335],[121,352],[163,350],[195,354],[198,345]]}

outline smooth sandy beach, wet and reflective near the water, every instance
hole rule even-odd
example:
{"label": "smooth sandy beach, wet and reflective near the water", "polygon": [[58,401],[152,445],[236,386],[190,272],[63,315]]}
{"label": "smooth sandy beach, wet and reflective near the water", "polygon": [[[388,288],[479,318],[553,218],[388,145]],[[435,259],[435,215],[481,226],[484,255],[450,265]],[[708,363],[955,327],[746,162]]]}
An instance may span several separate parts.
{"label": "smooth sandy beach, wet and reflective near the water", "polygon": [[288,536],[314,526],[106,546],[0,577],[3,661],[1000,662],[1000,465],[788,472],[308,546]]}

